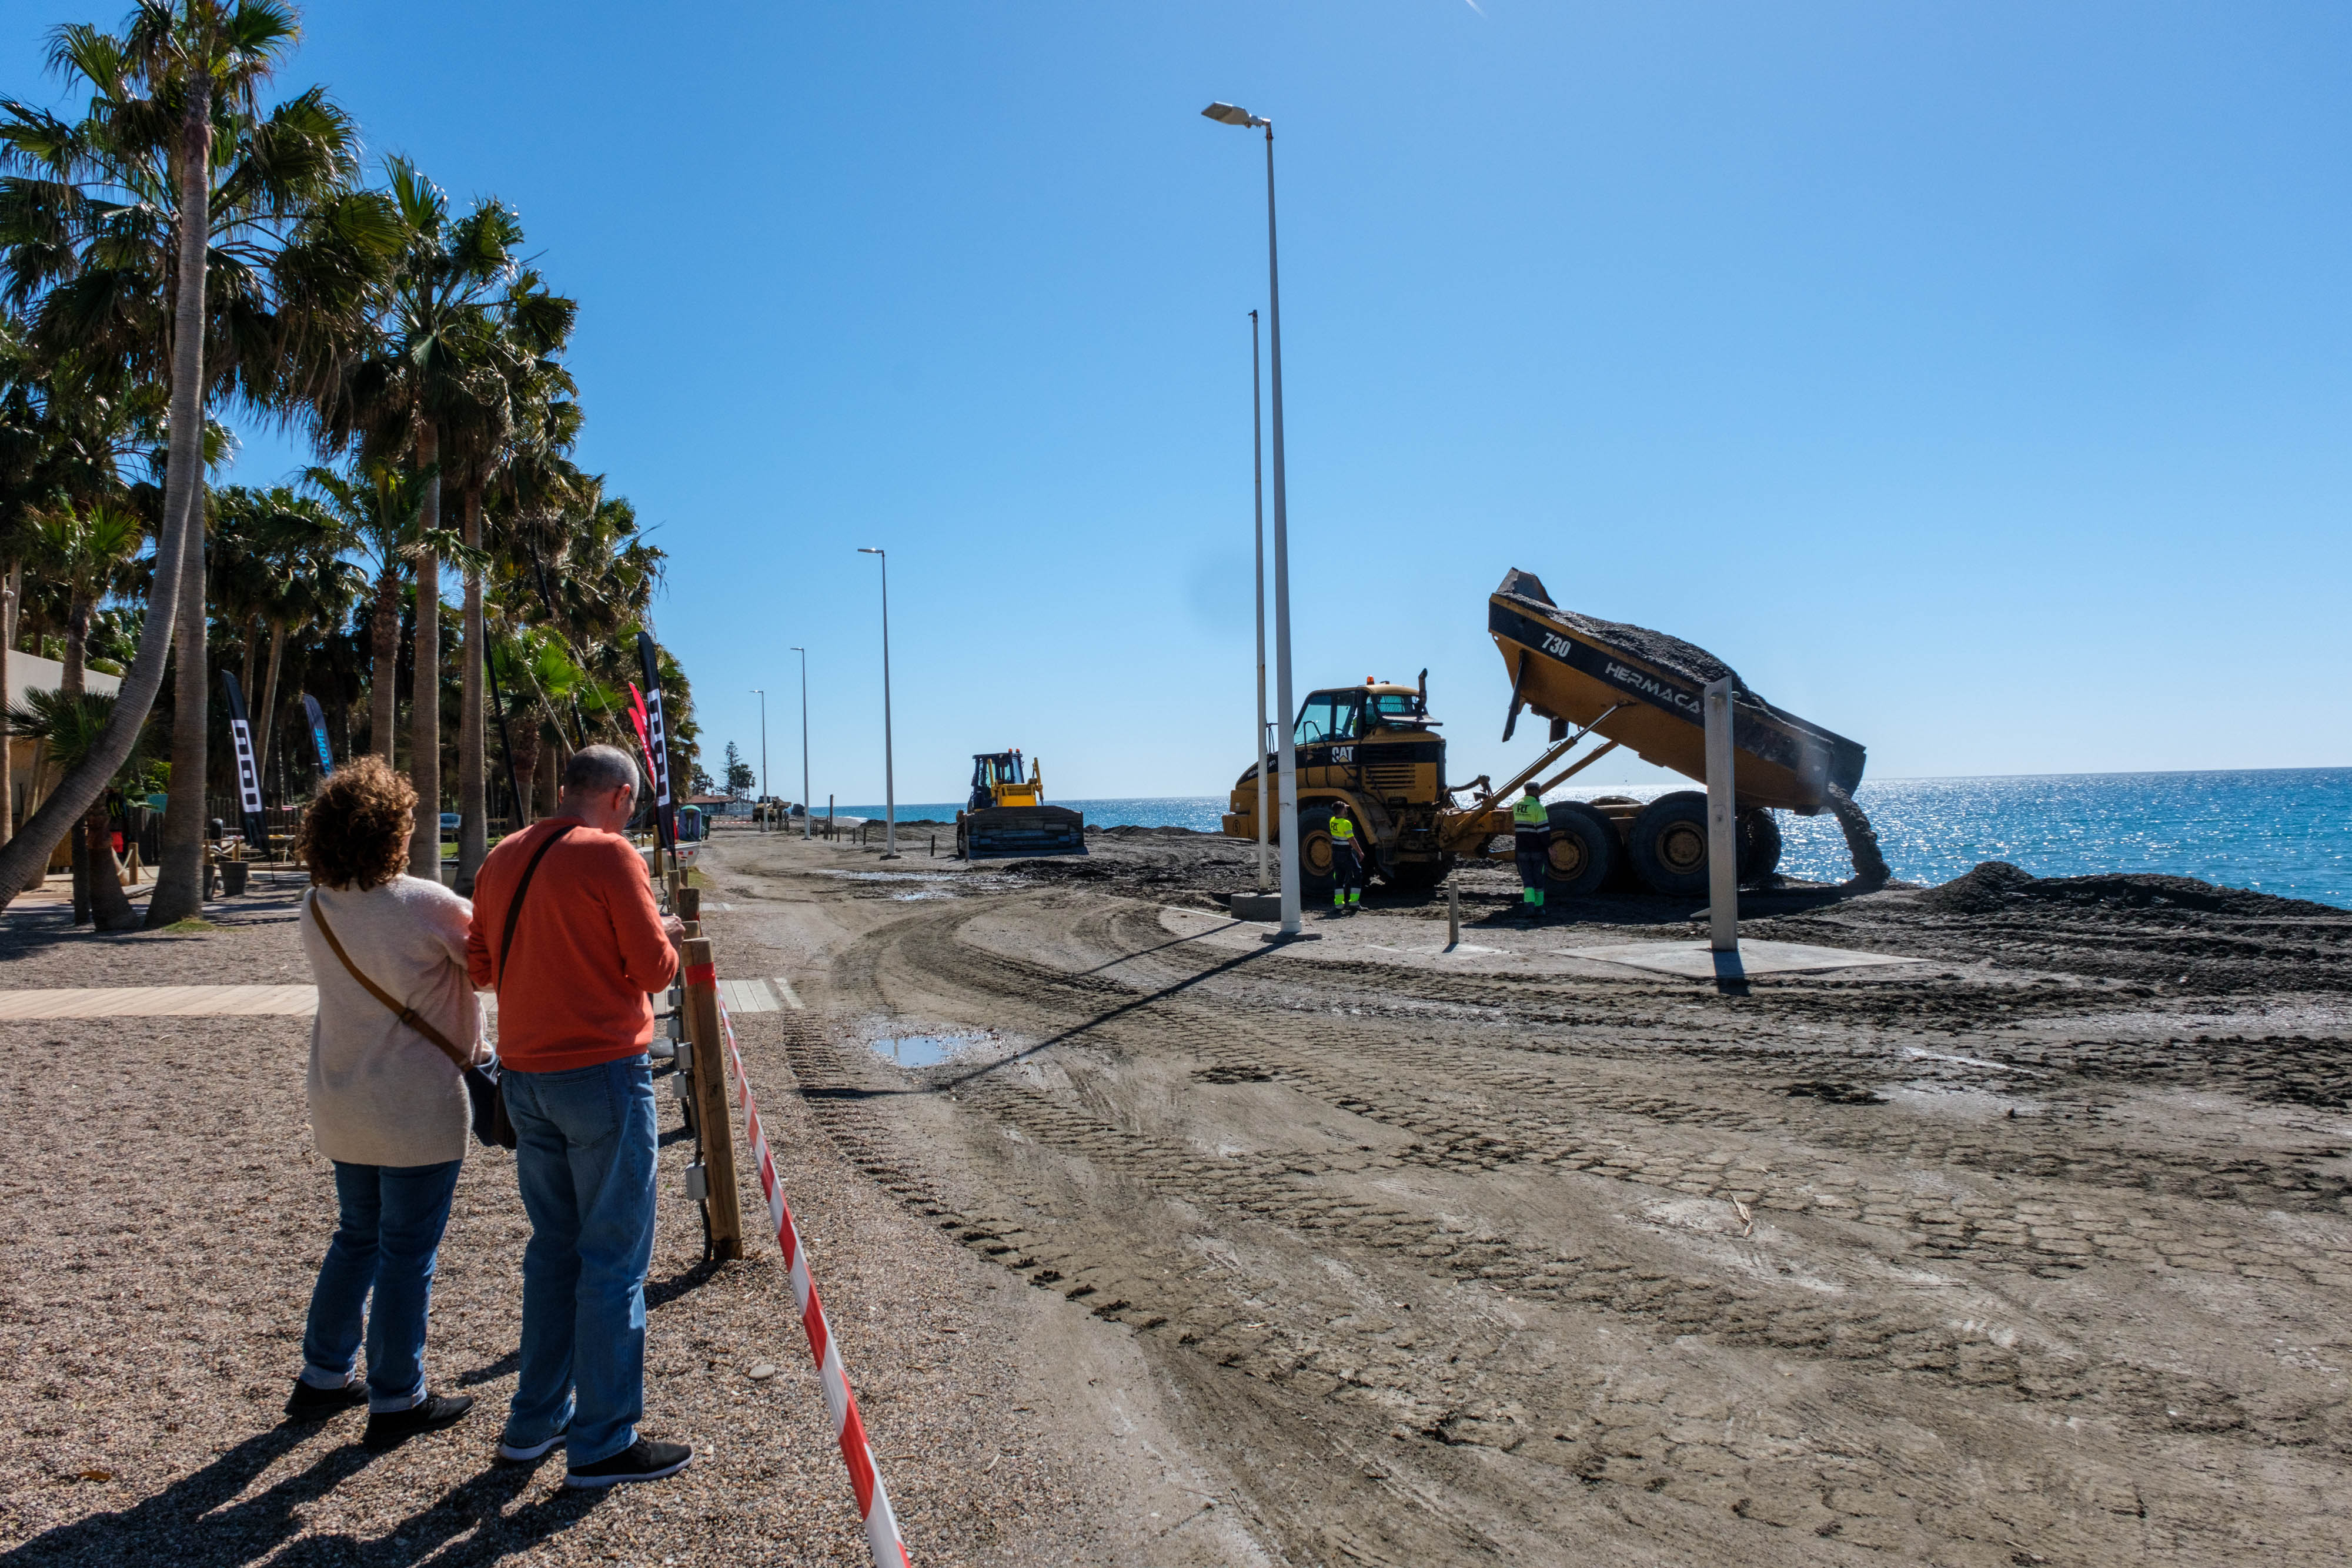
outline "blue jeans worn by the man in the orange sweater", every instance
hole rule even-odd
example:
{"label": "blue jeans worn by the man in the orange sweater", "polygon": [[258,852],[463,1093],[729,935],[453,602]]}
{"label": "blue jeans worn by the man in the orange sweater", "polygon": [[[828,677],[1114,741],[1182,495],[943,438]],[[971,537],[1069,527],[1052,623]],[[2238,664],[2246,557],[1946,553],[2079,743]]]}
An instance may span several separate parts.
{"label": "blue jeans worn by the man in the orange sweater", "polygon": [[644,1415],[644,1269],[654,1262],[654,1065],[642,1053],[569,1072],[508,1072],[522,1248],[522,1378],[506,1441],[569,1422],[574,1467],[637,1441]]}

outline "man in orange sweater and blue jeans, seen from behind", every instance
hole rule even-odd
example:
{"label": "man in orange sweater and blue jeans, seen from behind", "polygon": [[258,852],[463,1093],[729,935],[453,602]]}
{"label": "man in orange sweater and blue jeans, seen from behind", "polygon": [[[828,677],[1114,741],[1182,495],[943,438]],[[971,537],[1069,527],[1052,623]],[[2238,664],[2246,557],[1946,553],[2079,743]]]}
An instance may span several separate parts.
{"label": "man in orange sweater and blue jeans, seen from behind", "polygon": [[555,816],[489,851],[466,961],[499,992],[499,1065],[515,1124],[522,1378],[501,1460],[567,1450],[567,1486],[654,1481],[694,1460],[637,1436],[644,1272],[654,1260],[654,1039],[649,992],[677,976],[684,926],[661,914],[621,837],[637,764],[590,745],[564,766]]}

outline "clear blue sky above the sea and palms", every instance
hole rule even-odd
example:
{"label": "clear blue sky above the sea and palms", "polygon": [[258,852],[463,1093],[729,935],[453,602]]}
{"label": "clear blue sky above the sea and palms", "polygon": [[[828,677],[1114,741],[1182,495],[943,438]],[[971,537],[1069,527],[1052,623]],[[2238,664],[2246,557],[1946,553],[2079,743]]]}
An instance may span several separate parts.
{"label": "clear blue sky above the sea and palms", "polygon": [[1209,99],[1279,136],[1301,691],[1428,665],[1508,771],[1517,564],[1875,776],[2352,762],[2352,12],[1479,5],[341,2],[287,82],[520,209],[708,755],[767,686],[786,795],[807,644],[814,792],[880,797],[863,543],[901,799],[1247,762],[1263,165]]}

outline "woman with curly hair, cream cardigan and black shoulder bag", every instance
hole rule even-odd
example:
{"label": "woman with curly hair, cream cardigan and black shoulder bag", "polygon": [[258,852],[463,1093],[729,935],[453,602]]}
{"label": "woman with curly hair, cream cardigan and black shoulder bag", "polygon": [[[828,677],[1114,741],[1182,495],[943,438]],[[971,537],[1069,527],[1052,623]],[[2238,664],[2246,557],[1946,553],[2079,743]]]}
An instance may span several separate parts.
{"label": "woman with curly hair, cream cardigan and black shoulder bag", "polygon": [[[310,1135],[334,1161],[341,1220],[310,1291],[287,1415],[325,1420],[365,1403],[367,1448],[393,1448],[473,1408],[470,1396],[428,1392],[423,1371],[433,1260],[466,1159],[466,1084],[442,1046],[360,980],[459,1051],[487,1056],[466,978],[473,905],[402,875],[414,827],[409,780],[381,757],[360,757],[320,785],[294,842],[313,882],[301,907],[318,978]],[[362,1314],[365,1385],[355,1371]]]}

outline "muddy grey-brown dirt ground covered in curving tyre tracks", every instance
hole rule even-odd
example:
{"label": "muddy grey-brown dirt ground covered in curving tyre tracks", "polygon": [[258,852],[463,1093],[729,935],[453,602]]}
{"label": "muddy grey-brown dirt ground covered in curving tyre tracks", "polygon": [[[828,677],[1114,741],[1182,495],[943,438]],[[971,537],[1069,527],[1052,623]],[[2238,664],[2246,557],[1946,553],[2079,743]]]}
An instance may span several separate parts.
{"label": "muddy grey-brown dirt ground covered in curving tyre tracks", "polygon": [[1731,997],[1573,957],[1686,907],[1268,947],[1214,842],[915,849],[722,839],[708,931],[840,1150],[1065,1300],[1040,1399],[1190,1500],[1131,1561],[2343,1561],[2343,912],[1792,891],[1752,936],[1922,961]]}

